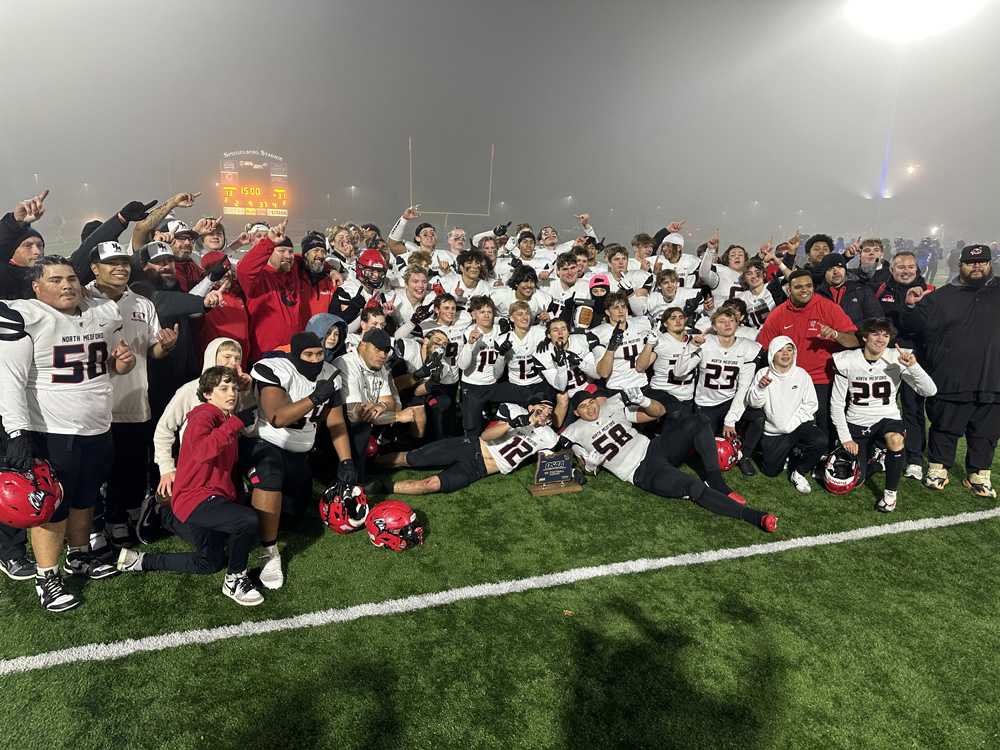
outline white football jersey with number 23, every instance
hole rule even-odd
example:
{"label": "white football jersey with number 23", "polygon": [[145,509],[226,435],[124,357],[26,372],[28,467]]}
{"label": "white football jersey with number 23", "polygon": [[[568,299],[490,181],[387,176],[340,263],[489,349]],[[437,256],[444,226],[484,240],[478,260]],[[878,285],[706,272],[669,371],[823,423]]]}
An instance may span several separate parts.
{"label": "white football jersey with number 23", "polygon": [[675,367],[678,373],[688,372],[688,368],[684,367],[685,360],[697,359],[695,403],[698,406],[716,406],[733,399],[734,407],[739,403],[738,419],[743,415],[743,399],[753,382],[759,353],[760,344],[756,341],[736,337],[732,346],[723,348],[718,336],[708,334],[699,349],[682,353]]}

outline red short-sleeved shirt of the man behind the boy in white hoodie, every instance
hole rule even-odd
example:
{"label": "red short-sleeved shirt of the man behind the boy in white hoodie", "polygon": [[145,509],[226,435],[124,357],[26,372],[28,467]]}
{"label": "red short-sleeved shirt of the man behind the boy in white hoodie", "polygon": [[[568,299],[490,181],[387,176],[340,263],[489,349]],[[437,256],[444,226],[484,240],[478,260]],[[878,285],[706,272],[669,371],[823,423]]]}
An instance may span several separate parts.
{"label": "red short-sleeved shirt of the man behind the boy in white hoodie", "polygon": [[798,350],[795,363],[809,373],[813,383],[822,385],[833,377],[834,353],[844,348],[836,341],[820,338],[824,324],[841,333],[858,330],[840,305],[813,294],[804,307],[795,307],[788,300],[774,308],[757,334],[757,343],[766,350],[775,336],[788,336]]}

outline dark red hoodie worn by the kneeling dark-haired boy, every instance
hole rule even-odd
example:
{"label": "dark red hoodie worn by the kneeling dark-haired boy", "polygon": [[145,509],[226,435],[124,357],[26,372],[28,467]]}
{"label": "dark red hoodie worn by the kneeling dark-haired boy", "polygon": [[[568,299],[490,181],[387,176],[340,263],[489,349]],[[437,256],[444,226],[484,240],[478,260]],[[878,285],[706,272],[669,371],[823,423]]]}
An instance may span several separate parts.
{"label": "dark red hoodie worn by the kneeling dark-haired boy", "polygon": [[236,499],[232,473],[242,429],[239,417],[227,417],[212,404],[200,404],[188,412],[170,501],[181,521],[213,495]]}

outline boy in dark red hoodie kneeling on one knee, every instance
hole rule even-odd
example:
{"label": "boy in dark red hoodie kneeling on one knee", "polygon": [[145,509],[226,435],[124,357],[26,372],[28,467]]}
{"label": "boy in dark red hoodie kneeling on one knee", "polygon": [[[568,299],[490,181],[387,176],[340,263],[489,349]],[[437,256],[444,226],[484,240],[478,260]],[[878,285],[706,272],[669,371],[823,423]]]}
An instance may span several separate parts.
{"label": "boy in dark red hoodie kneeling on one knee", "polygon": [[222,593],[244,606],[264,597],[247,575],[247,559],[257,544],[257,514],[236,502],[232,472],[240,431],[253,424],[253,409],[234,414],[239,376],[229,367],[210,367],[198,380],[200,406],[187,416],[169,506],[160,507],[165,529],[189,542],[193,552],[136,552],[122,549],[118,569],[139,572],[174,570],[209,574],[229,568]]}

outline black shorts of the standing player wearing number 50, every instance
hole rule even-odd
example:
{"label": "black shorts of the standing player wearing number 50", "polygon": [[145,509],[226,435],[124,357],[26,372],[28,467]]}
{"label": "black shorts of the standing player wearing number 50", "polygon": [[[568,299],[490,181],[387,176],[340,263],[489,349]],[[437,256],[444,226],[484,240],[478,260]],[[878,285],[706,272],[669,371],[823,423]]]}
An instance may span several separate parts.
{"label": "black shorts of the standing player wearing number 50", "polygon": [[63,487],[63,501],[50,523],[66,520],[70,508],[93,508],[115,457],[111,431],[103,435],[33,433],[35,456],[47,459]]}

